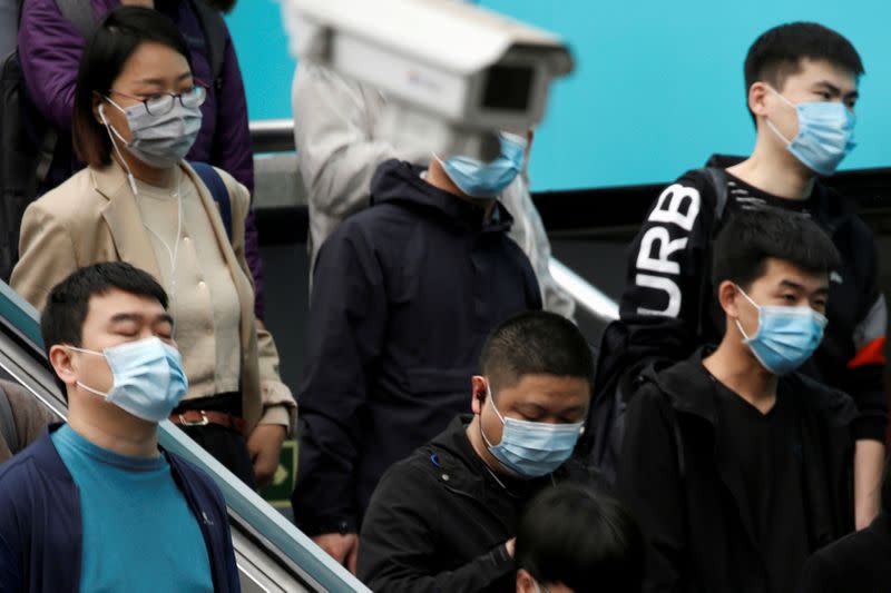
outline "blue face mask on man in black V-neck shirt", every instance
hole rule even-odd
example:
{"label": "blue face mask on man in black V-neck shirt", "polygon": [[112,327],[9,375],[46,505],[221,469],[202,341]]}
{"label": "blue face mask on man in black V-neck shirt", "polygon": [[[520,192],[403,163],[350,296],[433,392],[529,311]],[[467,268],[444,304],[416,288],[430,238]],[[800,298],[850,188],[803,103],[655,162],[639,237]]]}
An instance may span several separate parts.
{"label": "blue face mask on man in black V-neck shirt", "polygon": [[826,318],[811,307],[770,307],[752,300],[745,291],[740,293],[758,309],[758,329],[748,337],[736,319],[736,327],[745,338],[758,362],[774,375],[785,375],[803,365],[823,339]]}

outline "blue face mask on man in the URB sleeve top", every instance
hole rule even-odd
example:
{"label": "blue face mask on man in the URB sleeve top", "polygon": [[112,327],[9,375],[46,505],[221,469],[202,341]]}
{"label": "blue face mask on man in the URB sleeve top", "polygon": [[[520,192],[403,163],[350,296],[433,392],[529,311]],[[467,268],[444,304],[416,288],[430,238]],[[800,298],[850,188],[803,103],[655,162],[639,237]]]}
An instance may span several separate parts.
{"label": "blue face mask on man in the URB sleeve top", "polygon": [[[770,88],[770,87],[768,87]],[[771,90],[799,115],[799,134],[790,140],[768,119],[767,126],[805,167],[820,175],[832,175],[842,159],[854,149],[854,115],[844,103],[814,101],[793,103]]]}

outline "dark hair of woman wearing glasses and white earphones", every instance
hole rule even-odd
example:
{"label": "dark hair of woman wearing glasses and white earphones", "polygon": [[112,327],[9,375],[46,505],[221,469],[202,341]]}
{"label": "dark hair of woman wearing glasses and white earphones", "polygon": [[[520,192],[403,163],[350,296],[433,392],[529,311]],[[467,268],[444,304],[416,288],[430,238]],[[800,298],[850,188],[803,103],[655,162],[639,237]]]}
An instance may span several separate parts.
{"label": "dark hair of woman wearing glasses and white earphones", "polygon": [[154,41],[180,53],[192,68],[188,45],[176,24],[150,8],[120,7],[99,21],[80,58],[71,136],[77,158],[94,167],[111,162],[111,140],[92,112],[94,92],[107,95],[136,49]]}

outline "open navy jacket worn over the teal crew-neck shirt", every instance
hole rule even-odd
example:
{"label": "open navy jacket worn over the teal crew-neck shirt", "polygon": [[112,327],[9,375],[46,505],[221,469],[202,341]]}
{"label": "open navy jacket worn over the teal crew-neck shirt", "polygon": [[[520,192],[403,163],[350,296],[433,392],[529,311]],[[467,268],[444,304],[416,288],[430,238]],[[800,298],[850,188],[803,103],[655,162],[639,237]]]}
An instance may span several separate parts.
{"label": "open navy jacket worn over the teal crew-neck shirt", "polygon": [[[80,590],[80,497],[49,436],[59,426],[50,426],[31,446],[0,466],[0,592]],[[214,591],[241,591],[223,495],[204,472],[176,455],[164,455],[198,520],[210,557]],[[138,545],[139,534],[135,533],[134,550]]]}

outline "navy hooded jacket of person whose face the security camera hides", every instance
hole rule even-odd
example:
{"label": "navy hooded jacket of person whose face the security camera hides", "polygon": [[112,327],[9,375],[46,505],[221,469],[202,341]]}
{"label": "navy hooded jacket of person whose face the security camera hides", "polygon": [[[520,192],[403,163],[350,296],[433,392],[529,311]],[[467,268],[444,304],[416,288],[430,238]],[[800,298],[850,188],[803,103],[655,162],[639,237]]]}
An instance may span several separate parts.
{"label": "navy hooded jacket of person whose face the security camera hides", "polygon": [[378,480],[470,409],[488,334],[541,308],[532,267],[483,210],[389,160],[372,207],[322,246],[313,278],[292,496],[310,534],[358,533]]}

